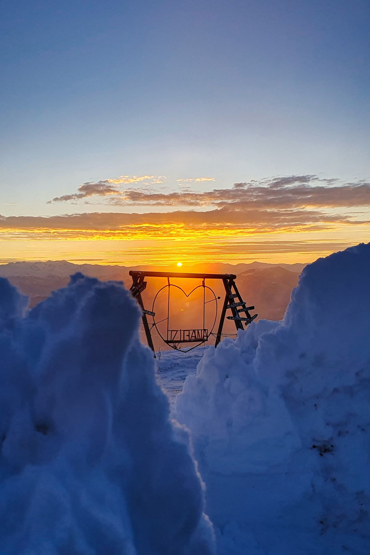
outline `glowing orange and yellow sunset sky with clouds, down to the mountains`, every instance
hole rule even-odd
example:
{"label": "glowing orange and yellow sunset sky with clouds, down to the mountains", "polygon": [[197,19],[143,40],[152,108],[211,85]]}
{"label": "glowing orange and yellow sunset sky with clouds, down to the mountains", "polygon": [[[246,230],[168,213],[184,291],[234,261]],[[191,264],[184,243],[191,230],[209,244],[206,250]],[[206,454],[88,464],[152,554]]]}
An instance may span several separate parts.
{"label": "glowing orange and yellow sunset sky with clouds, down to the mountains", "polygon": [[295,263],[370,240],[370,184],[364,181],[298,175],[228,188],[214,182],[199,178],[174,186],[145,175],[84,183],[47,206],[88,202],[91,209],[93,201],[106,211],[3,216],[2,263]]}

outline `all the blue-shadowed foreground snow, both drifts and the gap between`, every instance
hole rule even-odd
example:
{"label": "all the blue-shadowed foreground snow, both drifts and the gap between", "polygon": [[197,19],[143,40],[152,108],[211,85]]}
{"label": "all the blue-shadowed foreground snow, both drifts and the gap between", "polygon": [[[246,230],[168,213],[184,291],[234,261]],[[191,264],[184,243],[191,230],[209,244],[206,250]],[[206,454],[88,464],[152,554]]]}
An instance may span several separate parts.
{"label": "all the blue-shadowed foreground snow, both drifts and the gap between", "polygon": [[369,276],[319,259],[281,322],[156,362],[123,285],[0,279],[0,553],[368,555]]}

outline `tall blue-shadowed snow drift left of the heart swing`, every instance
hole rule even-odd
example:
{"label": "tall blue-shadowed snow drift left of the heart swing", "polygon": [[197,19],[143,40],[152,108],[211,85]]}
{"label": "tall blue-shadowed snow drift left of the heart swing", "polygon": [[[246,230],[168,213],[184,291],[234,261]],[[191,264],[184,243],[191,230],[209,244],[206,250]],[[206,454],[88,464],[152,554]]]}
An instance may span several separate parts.
{"label": "tall blue-shadowed snow drift left of the heart swing", "polygon": [[82,274],[26,314],[0,278],[0,552],[214,552],[183,427],[122,284]]}

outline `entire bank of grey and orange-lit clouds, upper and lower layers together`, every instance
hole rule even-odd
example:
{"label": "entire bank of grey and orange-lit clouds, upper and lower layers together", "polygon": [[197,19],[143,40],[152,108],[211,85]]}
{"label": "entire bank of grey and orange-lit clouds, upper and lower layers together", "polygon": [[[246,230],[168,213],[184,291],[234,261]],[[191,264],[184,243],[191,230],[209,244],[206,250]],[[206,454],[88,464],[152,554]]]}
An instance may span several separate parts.
{"label": "entire bank of grey and orange-lit clouds, upper and lower layers together", "polygon": [[359,212],[361,207],[370,206],[370,183],[367,181],[339,184],[335,179],[320,179],[308,174],[251,180],[235,183],[231,188],[203,192],[166,193],[150,190],[147,186],[141,190],[136,186],[124,191],[119,189],[122,183],[144,184],[147,178],[153,176],[121,176],[116,180],[84,183],[74,195],[54,200],[76,202],[98,195],[107,197],[111,207],[146,205],[178,210],[145,214],[115,211],[49,217],[0,216],[0,235],[4,239],[160,240],[222,235],[236,238],[245,234],[318,231],[334,229],[336,225],[368,224],[368,215]]}

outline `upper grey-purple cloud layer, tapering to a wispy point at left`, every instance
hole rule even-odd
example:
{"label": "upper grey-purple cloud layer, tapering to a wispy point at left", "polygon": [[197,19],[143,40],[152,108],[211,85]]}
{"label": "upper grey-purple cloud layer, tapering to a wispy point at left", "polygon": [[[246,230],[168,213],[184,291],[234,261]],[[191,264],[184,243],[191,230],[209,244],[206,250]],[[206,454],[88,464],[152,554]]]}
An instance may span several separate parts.
{"label": "upper grey-purple cloud layer, tapering to a wispy point at left", "polygon": [[99,181],[84,183],[78,193],[53,201],[76,201],[91,196],[109,197],[113,206],[171,206],[178,208],[216,207],[232,210],[296,210],[354,208],[370,205],[370,183],[339,184],[337,179],[317,175],[290,175],[260,181],[235,183],[231,188],[207,191],[163,192],[142,188],[121,190],[118,185]]}

